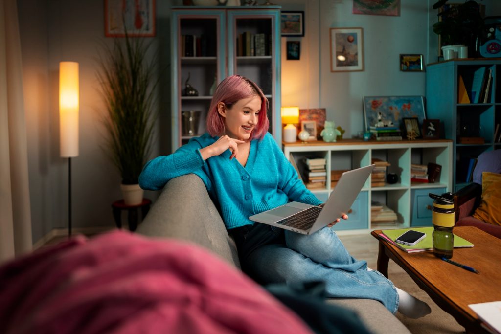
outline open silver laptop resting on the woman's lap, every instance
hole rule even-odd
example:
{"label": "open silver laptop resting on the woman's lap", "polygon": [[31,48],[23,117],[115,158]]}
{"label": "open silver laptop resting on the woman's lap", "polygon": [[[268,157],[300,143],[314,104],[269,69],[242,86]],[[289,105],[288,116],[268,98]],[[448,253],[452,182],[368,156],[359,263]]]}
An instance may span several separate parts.
{"label": "open silver laptop resting on the woman's lap", "polygon": [[323,207],[290,202],[249,219],[302,234],[315,233],[348,213],[374,167],[369,165],[341,174]]}

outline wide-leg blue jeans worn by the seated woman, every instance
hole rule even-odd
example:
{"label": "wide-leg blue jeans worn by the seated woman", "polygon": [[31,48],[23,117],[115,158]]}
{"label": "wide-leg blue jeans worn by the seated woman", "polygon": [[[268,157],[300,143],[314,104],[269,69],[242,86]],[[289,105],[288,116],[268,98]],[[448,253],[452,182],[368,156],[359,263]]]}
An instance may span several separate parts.
{"label": "wide-leg blue jeans worn by the seated woman", "polygon": [[304,235],[255,223],[230,232],[243,271],[262,284],[324,281],[328,297],[375,299],[397,311],[393,283],[353,258],[328,227]]}

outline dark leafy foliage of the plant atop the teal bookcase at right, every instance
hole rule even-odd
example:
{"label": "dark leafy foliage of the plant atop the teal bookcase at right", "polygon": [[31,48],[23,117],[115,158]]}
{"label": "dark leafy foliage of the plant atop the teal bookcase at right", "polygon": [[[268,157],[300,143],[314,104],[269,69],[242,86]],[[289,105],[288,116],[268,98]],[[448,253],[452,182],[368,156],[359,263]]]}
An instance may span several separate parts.
{"label": "dark leafy foliage of the plant atop the teal bookcase at right", "polygon": [[440,0],[433,9],[442,9],[438,13],[440,21],[433,25],[433,32],[440,36],[442,49],[447,47],[467,46],[469,54],[476,56],[478,36],[483,27],[479,5],[473,1],[463,4],[447,5],[448,0]]}

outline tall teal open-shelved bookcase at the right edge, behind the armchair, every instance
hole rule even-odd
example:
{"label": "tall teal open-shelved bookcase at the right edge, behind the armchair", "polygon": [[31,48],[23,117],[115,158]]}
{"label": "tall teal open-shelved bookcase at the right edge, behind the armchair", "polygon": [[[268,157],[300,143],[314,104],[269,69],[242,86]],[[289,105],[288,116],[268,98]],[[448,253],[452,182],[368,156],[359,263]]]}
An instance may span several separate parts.
{"label": "tall teal open-shelved bookcase at the right edge, behind the armchair", "polygon": [[439,119],[442,137],[452,140],[457,191],[470,182],[480,153],[501,148],[501,60],[451,60],[429,64],[426,71],[426,116]]}

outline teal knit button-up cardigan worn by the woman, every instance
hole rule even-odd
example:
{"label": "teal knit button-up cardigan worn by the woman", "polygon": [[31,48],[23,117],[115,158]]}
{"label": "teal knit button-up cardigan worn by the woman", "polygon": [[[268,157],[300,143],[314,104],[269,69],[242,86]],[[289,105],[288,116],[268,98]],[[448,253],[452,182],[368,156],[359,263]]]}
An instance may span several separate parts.
{"label": "teal knit button-up cardigan worn by the woman", "polygon": [[254,222],[249,216],[290,201],[322,203],[298,178],[270,133],[263,140],[250,143],[245,167],[236,159],[229,160],[229,149],[205,161],[202,159],[200,148],[211,145],[218,138],[205,133],[168,156],[150,160],[139,176],[141,188],[159,190],[172,178],[194,173],[219,207],[227,229],[252,225]]}

